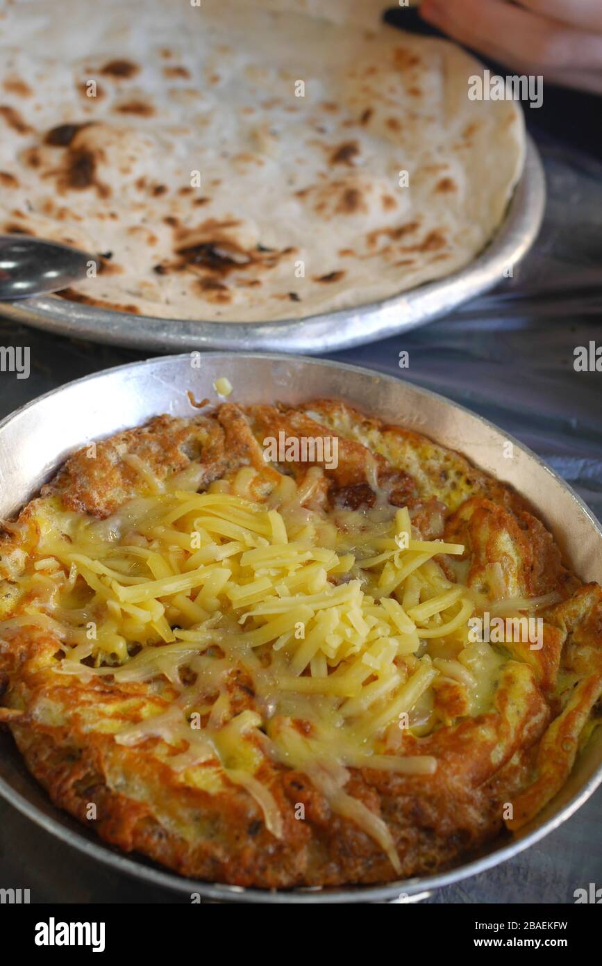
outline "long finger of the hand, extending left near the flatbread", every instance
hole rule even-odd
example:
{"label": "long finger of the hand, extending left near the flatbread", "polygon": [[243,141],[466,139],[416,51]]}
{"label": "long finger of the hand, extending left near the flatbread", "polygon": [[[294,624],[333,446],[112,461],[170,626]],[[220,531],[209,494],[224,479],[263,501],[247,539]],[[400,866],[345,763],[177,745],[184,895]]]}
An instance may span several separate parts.
{"label": "long finger of the hand, extending left near the flatbread", "polygon": [[420,12],[455,40],[521,71],[602,71],[602,35],[505,0],[424,0]]}

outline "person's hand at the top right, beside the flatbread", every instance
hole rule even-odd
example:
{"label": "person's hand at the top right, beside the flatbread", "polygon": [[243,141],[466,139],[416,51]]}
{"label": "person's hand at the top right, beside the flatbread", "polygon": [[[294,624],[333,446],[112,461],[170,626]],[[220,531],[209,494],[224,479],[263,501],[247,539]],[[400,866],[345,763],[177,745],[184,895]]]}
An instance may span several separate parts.
{"label": "person's hand at the top right, beside the flatbread", "polygon": [[420,14],[514,70],[602,94],[600,0],[423,0]]}

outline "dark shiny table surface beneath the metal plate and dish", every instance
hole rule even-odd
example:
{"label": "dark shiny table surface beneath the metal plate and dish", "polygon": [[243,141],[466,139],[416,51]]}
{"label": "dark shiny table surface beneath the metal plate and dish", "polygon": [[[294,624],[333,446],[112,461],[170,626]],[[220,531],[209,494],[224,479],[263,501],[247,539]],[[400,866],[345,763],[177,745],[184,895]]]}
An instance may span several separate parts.
{"label": "dark shiny table surface beneath the metal plate and dish", "polygon": [[[403,337],[331,355],[402,376],[461,402],[531,446],[602,518],[602,373],[577,372],[575,349],[602,345],[602,100],[547,94],[528,122],[548,181],[534,251],[494,293]],[[596,131],[598,134],[596,135]],[[29,347],[31,375],[0,372],[0,418],[70,380],[146,353],[95,346],[0,319],[0,346]],[[409,353],[400,372],[398,353]],[[602,885],[602,788],[555,833],[429,902],[565,903]],[[101,867],[0,801],[0,888],[32,902],[171,902],[170,893]]]}

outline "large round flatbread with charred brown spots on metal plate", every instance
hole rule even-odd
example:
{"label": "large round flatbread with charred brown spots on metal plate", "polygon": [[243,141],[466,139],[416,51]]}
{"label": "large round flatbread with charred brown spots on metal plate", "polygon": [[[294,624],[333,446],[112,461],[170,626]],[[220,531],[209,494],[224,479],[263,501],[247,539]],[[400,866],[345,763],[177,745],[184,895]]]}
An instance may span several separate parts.
{"label": "large round flatbread with charred brown spots on metal plate", "polygon": [[162,318],[305,317],[466,266],[520,176],[522,113],[468,98],[481,66],[454,44],[368,14],[14,0],[0,231],[101,254],[68,297]]}

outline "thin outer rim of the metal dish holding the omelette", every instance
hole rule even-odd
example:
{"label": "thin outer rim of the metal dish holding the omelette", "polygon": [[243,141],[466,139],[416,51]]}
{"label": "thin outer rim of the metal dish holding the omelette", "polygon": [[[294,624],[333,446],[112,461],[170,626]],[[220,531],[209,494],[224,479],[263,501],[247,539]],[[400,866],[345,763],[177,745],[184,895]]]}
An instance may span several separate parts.
{"label": "thin outer rim of the metal dish holding the omelette", "polygon": [[[274,360],[274,361],[286,361],[290,363],[292,360],[289,355],[286,354],[272,354],[272,353],[249,353],[245,354],[244,357]],[[188,354],[173,355],[169,357],[174,361],[178,359],[189,359]],[[242,359],[241,359],[242,360]],[[323,366],[326,368],[342,369],[352,374],[362,374],[370,378],[375,376],[378,379],[383,380],[386,383],[397,384],[399,380],[394,376],[389,376],[384,373],[376,372],[370,370],[364,366],[350,365],[348,363],[335,362],[326,359],[313,359],[299,357],[297,359],[299,362],[313,363],[316,366]],[[132,369],[138,369],[140,367],[150,366],[156,364],[157,362],[168,362],[168,359],[157,359],[148,358],[138,362],[126,363],[121,366],[116,366],[110,369],[104,369],[100,372],[93,373],[82,379],[74,380],[68,384],[60,386],[57,389],[53,389],[50,392],[44,393],[37,399],[32,400],[30,403],[23,407],[20,407],[15,412],[11,413],[5,417],[0,422],[0,432],[3,428],[12,422],[15,417],[21,413],[27,411],[28,409],[38,405],[50,396],[54,396],[57,393],[62,392],[74,385],[82,383],[94,382],[96,379],[102,379],[109,374],[131,371]],[[468,408],[452,403],[445,396],[439,393],[433,392],[430,389],[426,389],[423,386],[418,386],[415,384],[410,384],[412,391],[415,391],[417,395],[424,395],[427,397],[434,398],[445,406],[452,408],[455,411],[463,412],[474,419],[477,419],[485,427],[492,429],[494,432],[499,433],[498,427],[490,420],[485,419],[480,416],[479,413],[473,412]],[[525,446],[519,440],[515,440],[510,435],[504,434],[505,439],[509,440],[526,454],[534,463],[536,463],[540,468],[544,469],[553,479],[568,492],[572,500],[577,504],[579,509],[588,518],[589,525],[596,531],[599,538],[602,539],[602,526],[593,516],[589,510],[587,504],[584,500],[575,493],[573,488],[566,483],[561,476],[551,467],[549,467],[544,460],[542,460],[536,453],[534,453],[529,447]],[[32,781],[35,781],[32,779]],[[353,902],[386,902],[392,899],[398,899],[399,895],[407,895],[409,901],[412,900],[412,896],[419,898],[421,895],[429,894],[432,890],[440,888],[442,886],[449,885],[453,882],[461,881],[462,879],[468,878],[479,872],[485,871],[488,868],[500,865],[506,860],[522,852],[524,849],[530,847],[535,842],[544,838],[550,832],[558,828],[562,822],[569,818],[576,810],[578,810],[590,797],[590,795],[595,791],[595,789],[602,783],[602,761],[597,766],[595,771],[589,776],[588,781],[577,791],[577,793],[559,810],[559,812],[552,817],[548,818],[539,826],[535,827],[528,834],[522,836],[521,838],[515,838],[508,841],[505,845],[498,849],[494,849],[479,858],[476,858],[468,863],[453,867],[441,873],[437,873],[432,876],[415,877],[407,880],[399,880],[395,883],[388,883],[383,886],[356,886],[356,887],[341,887],[335,890],[320,890],[320,889],[297,889],[297,890],[260,890],[260,889],[247,889],[238,886],[228,886],[223,884],[207,883],[203,880],[188,879],[178,874],[164,871],[160,867],[155,867],[147,865],[144,861],[136,861],[125,857],[121,852],[114,850],[112,846],[101,843],[99,840],[87,838],[79,831],[73,831],[68,829],[66,826],[62,825],[58,820],[54,819],[51,815],[44,813],[42,810],[37,808],[32,803],[28,802],[20,793],[16,792],[12,785],[0,777],[0,795],[6,799],[10,804],[14,806],[17,810],[22,812],[26,817],[30,818],[32,821],[36,822],[41,828],[51,835],[60,838],[62,841],[66,842],[68,845],[79,849],[85,855],[90,858],[94,858],[105,865],[113,867],[116,871],[128,874],[137,879],[142,879],[150,882],[153,885],[161,886],[163,888],[176,891],[180,894],[190,895],[191,893],[197,893],[203,895],[205,899],[210,901],[221,901],[221,902],[254,902],[254,903],[279,903],[279,904],[333,904],[333,903],[353,903]],[[51,806],[48,800],[49,806]]]}

